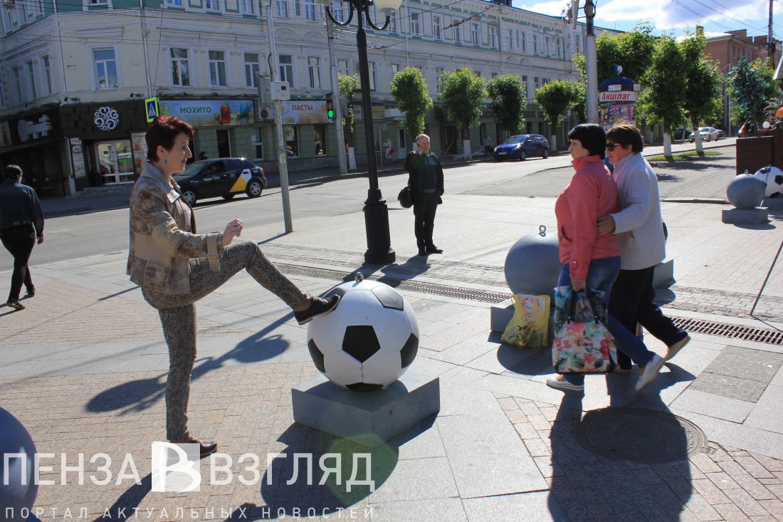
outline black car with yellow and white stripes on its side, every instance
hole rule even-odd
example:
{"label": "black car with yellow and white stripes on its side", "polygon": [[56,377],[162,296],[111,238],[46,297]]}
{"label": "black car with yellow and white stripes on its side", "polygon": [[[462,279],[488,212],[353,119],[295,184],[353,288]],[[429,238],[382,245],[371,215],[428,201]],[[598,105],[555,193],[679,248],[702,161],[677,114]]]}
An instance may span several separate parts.
{"label": "black car with yellow and white stripes on its side", "polygon": [[248,198],[258,198],[266,187],[264,169],[245,158],[195,161],[174,179],[191,206],[200,199],[231,199],[243,192]]}

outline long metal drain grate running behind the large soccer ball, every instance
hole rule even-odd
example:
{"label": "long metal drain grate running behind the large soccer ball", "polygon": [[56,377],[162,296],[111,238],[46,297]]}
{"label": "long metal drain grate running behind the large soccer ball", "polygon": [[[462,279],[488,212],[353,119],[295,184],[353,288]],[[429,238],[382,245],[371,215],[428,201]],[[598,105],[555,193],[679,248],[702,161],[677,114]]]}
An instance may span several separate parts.
{"label": "long metal drain grate running behind the large soccer ball", "polygon": [[[309,266],[296,266],[287,265],[282,263],[276,263],[278,268],[285,274],[299,275],[305,277],[318,277],[319,279],[332,279],[337,281],[353,281],[355,272],[352,274],[346,274],[338,270],[328,270],[326,268],[311,268]],[[446,297],[454,297],[456,299],[468,299],[470,301],[482,301],[483,303],[500,303],[510,297],[508,294],[502,292],[488,292],[486,290],[479,290],[476,288],[462,288],[459,286],[449,285],[435,285],[434,283],[424,283],[421,281],[408,281],[406,279],[398,279],[396,277],[390,277],[384,275],[378,277],[377,275],[365,275],[365,279],[372,281],[381,281],[385,285],[389,285],[392,288],[399,288],[401,290],[408,290],[410,292],[421,292],[424,294],[443,295]]]}

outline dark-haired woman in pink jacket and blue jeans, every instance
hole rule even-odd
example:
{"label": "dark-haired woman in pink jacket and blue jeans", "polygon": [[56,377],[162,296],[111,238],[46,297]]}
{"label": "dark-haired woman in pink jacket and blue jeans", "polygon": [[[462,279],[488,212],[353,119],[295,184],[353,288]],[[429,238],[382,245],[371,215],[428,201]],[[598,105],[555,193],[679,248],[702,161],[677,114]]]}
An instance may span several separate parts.
{"label": "dark-haired woman in pink jacket and blue jeans", "polygon": [[[616,237],[596,230],[599,216],[619,211],[617,185],[604,165],[606,135],[599,125],[577,125],[568,132],[568,140],[576,173],[554,205],[561,263],[557,286],[571,285],[575,292],[591,288],[609,295],[620,271],[620,248]],[[663,359],[611,316],[607,327],[617,347],[639,365],[636,387],[641,390],[658,375]],[[547,386],[583,391],[584,375],[550,377]]]}

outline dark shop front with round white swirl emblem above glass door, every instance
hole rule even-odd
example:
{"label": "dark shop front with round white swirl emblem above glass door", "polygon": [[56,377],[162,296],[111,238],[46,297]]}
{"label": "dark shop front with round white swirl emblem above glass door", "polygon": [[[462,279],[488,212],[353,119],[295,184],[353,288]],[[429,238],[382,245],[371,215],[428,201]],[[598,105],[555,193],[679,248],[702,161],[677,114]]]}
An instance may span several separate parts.
{"label": "dark shop front with round white swirl emblem above glass door", "polygon": [[60,107],[77,190],[133,183],[146,158],[142,100]]}

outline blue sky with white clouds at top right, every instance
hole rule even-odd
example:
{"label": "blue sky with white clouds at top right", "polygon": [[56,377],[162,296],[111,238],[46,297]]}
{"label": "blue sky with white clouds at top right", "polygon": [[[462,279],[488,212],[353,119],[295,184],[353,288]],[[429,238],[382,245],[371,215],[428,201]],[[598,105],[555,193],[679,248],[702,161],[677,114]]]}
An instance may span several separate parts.
{"label": "blue sky with white clouds at top right", "polygon": [[[514,0],[514,7],[559,16],[569,0]],[[656,33],[683,34],[702,25],[705,32],[723,33],[747,29],[748,34],[767,34],[768,0],[597,0],[595,23],[627,31],[649,20]],[[580,2],[584,5],[584,0]],[[583,16],[582,11],[579,16]],[[774,36],[783,39],[783,0],[774,2]]]}

